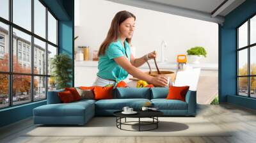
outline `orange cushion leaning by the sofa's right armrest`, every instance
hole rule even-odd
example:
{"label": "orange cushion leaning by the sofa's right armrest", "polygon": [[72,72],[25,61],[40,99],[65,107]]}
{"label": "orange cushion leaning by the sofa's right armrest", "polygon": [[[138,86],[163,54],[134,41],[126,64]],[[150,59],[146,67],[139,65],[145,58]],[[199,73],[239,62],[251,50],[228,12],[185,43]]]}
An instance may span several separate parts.
{"label": "orange cushion leaning by the sofa's right armrest", "polygon": [[186,94],[188,92],[189,86],[170,86],[169,93],[166,97],[168,100],[182,100],[185,102]]}

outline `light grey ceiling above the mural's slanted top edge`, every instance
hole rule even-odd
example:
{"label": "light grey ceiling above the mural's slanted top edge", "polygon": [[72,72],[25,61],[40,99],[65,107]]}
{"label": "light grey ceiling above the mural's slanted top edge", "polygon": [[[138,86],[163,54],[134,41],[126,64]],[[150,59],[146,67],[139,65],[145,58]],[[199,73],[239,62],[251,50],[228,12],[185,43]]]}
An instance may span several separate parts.
{"label": "light grey ceiling above the mural's slanted top edge", "polygon": [[245,0],[107,0],[148,10],[223,24],[225,15]]}

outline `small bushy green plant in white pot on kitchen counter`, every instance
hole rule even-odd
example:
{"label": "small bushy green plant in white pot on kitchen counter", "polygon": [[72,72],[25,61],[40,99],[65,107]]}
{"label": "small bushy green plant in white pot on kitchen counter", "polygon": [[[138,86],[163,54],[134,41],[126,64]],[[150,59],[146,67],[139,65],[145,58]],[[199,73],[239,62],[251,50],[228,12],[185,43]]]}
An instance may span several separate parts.
{"label": "small bushy green plant in white pot on kitchen counter", "polygon": [[207,52],[205,51],[204,47],[192,47],[191,49],[187,50],[187,54],[189,63],[199,64],[200,59],[202,59],[203,56],[206,57]]}

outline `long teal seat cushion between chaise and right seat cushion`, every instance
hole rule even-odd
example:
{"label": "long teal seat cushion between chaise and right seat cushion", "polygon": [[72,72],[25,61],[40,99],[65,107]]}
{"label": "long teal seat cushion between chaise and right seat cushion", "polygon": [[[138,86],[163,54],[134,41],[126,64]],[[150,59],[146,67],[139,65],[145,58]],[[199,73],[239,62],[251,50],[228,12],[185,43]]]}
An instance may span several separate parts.
{"label": "long teal seat cushion between chaise and right seat cushion", "polygon": [[141,109],[146,102],[150,102],[148,99],[111,99],[111,100],[99,100],[95,102],[95,109],[100,110],[122,110],[123,107],[128,106],[136,110]]}

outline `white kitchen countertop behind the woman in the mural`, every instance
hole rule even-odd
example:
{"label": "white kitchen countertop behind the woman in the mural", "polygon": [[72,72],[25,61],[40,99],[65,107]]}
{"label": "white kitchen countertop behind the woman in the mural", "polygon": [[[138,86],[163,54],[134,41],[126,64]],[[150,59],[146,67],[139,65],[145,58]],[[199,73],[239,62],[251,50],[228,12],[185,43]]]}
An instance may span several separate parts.
{"label": "white kitchen countertop behind the woman in the mural", "polygon": [[[149,61],[149,64],[152,69],[156,69],[154,61]],[[188,66],[192,66],[193,68],[201,68],[201,70],[218,70],[218,64],[215,63],[200,63],[200,64],[187,64]],[[177,69],[177,63],[157,63],[158,68],[161,69]],[[76,67],[98,67],[98,61],[75,61]],[[140,66],[140,68],[147,68],[147,63]]]}

